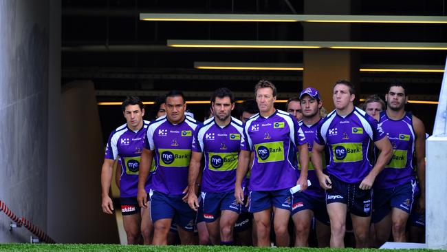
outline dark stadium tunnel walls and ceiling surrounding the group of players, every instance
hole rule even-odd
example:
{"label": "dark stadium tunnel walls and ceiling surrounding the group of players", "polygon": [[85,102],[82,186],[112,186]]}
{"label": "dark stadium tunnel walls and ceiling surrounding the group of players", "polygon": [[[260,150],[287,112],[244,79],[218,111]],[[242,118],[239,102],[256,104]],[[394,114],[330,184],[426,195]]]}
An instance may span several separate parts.
{"label": "dark stadium tunnel walls and ceiling surrounding the group of players", "polygon": [[[143,21],[142,13],[297,20]],[[305,15],[345,21],[313,23]],[[380,20],[352,21],[366,16]],[[433,17],[437,23],[428,22]],[[124,118],[119,105],[100,104],[127,95],[154,101],[177,89],[197,102],[188,107],[200,120],[217,87],[245,100],[267,78],[279,100],[318,88],[330,111],[338,79],[356,84],[356,103],[401,81],[431,134],[447,49],[445,0],[17,0],[0,1],[0,20],[0,200],[57,242],[70,243],[119,242],[116,219],[100,209],[100,167],[107,136]],[[243,46],[171,46],[219,41]],[[247,46],[265,41],[277,46]],[[294,48],[285,46],[291,43]],[[347,47],[334,49],[340,45]],[[235,69],[241,65],[252,68]],[[293,69],[275,70],[279,65]],[[1,214],[0,224],[0,242],[29,240],[23,229],[8,230],[8,216]]]}

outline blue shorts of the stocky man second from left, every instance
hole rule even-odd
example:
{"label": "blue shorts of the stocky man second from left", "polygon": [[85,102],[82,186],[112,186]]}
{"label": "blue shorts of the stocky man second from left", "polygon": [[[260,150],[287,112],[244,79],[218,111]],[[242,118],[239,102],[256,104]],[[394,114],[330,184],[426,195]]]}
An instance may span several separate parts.
{"label": "blue shorts of the stocky man second from left", "polygon": [[197,213],[190,209],[188,203],[183,202],[184,195],[167,195],[160,191],[152,191],[151,218],[155,223],[160,219],[173,219],[173,221],[186,231],[193,232]]}

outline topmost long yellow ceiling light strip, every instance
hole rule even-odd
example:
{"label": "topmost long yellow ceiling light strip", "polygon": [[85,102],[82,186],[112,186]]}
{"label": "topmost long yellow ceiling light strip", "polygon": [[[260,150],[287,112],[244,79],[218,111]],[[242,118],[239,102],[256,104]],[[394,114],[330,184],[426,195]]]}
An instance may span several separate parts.
{"label": "topmost long yellow ceiling light strip", "polygon": [[313,22],[313,23],[447,23],[444,16],[373,16],[305,14],[140,13],[142,21]]}

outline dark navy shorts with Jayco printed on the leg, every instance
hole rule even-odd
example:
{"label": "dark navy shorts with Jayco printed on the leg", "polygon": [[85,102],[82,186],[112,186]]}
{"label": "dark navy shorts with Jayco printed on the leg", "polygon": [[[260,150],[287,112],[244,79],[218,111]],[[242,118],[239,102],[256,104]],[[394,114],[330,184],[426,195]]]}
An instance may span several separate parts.
{"label": "dark navy shorts with Jayco printed on the leg", "polygon": [[358,188],[359,183],[347,183],[335,176],[329,175],[332,189],[326,190],[326,205],[339,202],[347,204],[347,209],[355,216],[371,216],[373,204],[373,190],[362,190]]}

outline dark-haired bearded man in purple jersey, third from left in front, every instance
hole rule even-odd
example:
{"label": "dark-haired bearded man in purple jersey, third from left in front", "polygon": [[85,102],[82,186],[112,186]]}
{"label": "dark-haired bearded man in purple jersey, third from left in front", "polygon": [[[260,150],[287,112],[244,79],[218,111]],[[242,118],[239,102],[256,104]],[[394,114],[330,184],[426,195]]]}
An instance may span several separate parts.
{"label": "dark-haired bearded man in purple jersey, third from left in front", "polygon": [[204,156],[201,198],[210,240],[212,244],[232,245],[233,228],[241,213],[241,205],[234,195],[242,123],[231,116],[235,96],[228,88],[216,90],[211,105],[215,116],[195,131],[188,174],[188,204],[195,211],[199,209],[196,183]]}

